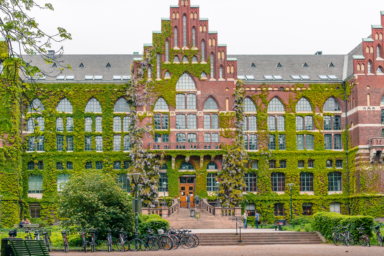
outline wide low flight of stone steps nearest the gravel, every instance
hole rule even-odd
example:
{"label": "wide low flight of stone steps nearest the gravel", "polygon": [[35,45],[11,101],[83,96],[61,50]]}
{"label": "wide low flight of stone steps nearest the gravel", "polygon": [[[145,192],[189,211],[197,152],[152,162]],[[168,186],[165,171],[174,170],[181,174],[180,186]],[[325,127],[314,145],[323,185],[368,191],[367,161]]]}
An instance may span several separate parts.
{"label": "wide low flight of stone steps nearest the gravel", "polygon": [[199,246],[259,245],[259,244],[321,244],[323,241],[314,232],[270,232],[270,233],[201,233]]}

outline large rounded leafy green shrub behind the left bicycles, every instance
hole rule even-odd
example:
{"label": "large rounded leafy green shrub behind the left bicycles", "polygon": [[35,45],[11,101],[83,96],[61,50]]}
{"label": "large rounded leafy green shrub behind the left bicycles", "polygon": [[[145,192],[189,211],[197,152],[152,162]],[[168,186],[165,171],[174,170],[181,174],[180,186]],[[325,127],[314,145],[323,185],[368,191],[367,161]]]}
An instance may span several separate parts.
{"label": "large rounded leafy green shrub behind the left bicycles", "polygon": [[123,228],[134,233],[131,197],[115,177],[101,171],[71,176],[59,196],[59,214],[64,223],[94,228]]}

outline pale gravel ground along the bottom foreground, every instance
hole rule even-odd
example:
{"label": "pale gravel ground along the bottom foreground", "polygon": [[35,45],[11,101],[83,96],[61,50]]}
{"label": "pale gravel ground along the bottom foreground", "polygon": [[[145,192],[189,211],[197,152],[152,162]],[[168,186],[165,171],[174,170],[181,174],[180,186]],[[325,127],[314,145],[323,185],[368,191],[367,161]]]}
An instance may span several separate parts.
{"label": "pale gravel ground along the bottom foreground", "polygon": [[[88,252],[86,255],[91,254]],[[82,256],[83,252],[50,253],[51,256]],[[384,248],[379,246],[335,246],[333,244],[274,244],[274,245],[247,245],[247,246],[198,246],[191,249],[176,249],[170,251],[139,251],[139,252],[96,252],[93,256],[377,256],[384,255]]]}

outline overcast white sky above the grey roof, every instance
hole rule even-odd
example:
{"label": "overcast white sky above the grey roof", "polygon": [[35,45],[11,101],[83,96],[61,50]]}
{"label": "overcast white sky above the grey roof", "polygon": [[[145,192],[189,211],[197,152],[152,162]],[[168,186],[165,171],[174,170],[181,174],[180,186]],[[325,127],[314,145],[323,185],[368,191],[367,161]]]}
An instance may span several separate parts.
{"label": "overcast white sky above the grey roof", "polygon": [[[48,33],[58,26],[72,34],[65,54],[132,54],[152,43],[169,5],[178,0],[36,0],[55,8],[32,17]],[[218,31],[218,42],[233,54],[347,54],[380,24],[382,0],[190,0],[200,18]],[[219,3],[219,4],[218,4]],[[216,5],[216,6],[215,6]],[[58,50],[60,45],[53,45]]]}

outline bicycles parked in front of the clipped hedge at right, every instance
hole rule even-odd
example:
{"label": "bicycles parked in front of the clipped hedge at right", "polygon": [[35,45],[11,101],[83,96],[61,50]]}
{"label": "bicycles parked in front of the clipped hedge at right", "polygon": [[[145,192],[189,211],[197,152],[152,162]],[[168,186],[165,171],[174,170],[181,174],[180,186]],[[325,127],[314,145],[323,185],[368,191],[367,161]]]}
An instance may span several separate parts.
{"label": "bicycles parked in front of the clipped hedge at right", "polygon": [[[366,235],[364,231],[366,228],[363,228],[362,225],[363,224],[361,224],[360,228],[356,228],[356,230],[359,230],[359,234],[361,234],[361,236],[358,238],[358,242],[362,246],[371,246],[371,242],[369,241],[369,236]],[[383,223],[378,223],[376,226],[370,226],[373,232],[375,233],[375,238],[379,243],[378,244],[379,246],[383,246],[384,244],[384,239],[381,236],[381,232],[380,232],[380,227],[383,225],[384,225]],[[339,243],[346,246],[356,244],[354,236],[351,233],[349,233],[349,226],[351,226],[351,224],[348,224],[345,227],[342,225],[339,225],[332,228],[333,230],[332,239],[335,245],[339,245]]]}

